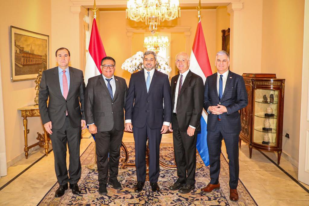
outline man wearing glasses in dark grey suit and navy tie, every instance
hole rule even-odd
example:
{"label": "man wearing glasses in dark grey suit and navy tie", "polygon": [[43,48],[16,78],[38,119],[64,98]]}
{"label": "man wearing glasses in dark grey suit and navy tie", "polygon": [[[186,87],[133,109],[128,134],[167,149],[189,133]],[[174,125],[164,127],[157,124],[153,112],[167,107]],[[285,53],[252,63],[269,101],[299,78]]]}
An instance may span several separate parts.
{"label": "man wearing glasses in dark grey suit and navy tie", "polygon": [[99,194],[105,195],[107,183],[121,189],[117,175],[128,87],[124,78],[114,76],[116,61],[112,57],[104,57],[100,68],[102,74],[88,80],[85,114],[89,132],[95,135]]}

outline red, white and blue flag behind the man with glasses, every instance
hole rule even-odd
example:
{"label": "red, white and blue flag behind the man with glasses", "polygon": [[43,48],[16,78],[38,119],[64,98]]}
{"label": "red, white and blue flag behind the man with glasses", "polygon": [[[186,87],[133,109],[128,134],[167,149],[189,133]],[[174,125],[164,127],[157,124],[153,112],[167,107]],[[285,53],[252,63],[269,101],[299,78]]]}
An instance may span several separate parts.
{"label": "red, white and blue flag behind the man with glasses", "polygon": [[[84,77],[86,86],[87,86],[89,78],[102,74],[102,71],[100,68],[101,60],[104,57],[106,57],[104,46],[103,46],[99,31],[98,31],[98,27],[96,25],[95,19],[93,19],[93,23],[92,23],[88,51],[89,53],[87,54],[85,77]],[[92,137],[95,140],[95,136],[92,135]]]}

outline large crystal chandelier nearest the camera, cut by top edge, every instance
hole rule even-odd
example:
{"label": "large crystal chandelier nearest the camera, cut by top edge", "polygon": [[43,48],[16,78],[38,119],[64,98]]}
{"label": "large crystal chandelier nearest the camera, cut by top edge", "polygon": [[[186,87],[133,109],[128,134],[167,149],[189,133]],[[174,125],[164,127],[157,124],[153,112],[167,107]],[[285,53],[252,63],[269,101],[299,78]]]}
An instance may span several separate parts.
{"label": "large crystal chandelier nearest the camera, cut by top edge", "polygon": [[149,24],[149,30],[155,33],[161,21],[180,17],[179,0],[128,0],[126,18]]}

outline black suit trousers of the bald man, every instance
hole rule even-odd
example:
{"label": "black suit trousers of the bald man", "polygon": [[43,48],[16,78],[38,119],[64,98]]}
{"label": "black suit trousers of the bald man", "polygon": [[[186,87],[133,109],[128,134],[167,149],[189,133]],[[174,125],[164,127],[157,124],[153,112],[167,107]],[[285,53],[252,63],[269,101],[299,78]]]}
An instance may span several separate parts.
{"label": "black suit trousers of the bald man", "polygon": [[173,114],[173,143],[177,165],[177,182],[194,185],[196,169],[196,132],[190,137],[181,132],[177,116]]}

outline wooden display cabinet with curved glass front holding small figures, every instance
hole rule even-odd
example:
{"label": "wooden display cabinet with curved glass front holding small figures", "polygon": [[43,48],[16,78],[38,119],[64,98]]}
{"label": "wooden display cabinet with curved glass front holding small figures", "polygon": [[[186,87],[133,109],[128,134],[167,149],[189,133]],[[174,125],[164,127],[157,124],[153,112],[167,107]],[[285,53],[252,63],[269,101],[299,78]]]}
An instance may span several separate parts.
{"label": "wooden display cabinet with curved glass front holding small figures", "polygon": [[252,148],[277,151],[278,165],[282,152],[282,125],[285,79],[276,74],[244,73],[248,105],[240,111],[241,140],[249,144],[250,159]]}

